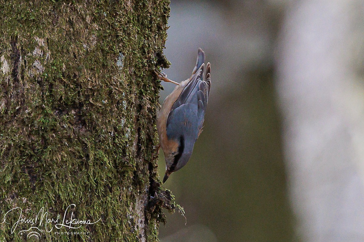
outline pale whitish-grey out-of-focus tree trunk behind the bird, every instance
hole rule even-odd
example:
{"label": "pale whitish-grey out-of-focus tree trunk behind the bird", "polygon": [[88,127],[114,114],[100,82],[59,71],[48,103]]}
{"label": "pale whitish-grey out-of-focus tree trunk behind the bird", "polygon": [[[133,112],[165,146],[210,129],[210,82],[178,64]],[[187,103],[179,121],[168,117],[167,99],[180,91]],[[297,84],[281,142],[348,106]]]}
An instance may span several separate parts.
{"label": "pale whitish-grey out-of-focus tree trunk behind the bird", "polygon": [[278,85],[298,233],[364,240],[363,1],[292,3],[280,34]]}

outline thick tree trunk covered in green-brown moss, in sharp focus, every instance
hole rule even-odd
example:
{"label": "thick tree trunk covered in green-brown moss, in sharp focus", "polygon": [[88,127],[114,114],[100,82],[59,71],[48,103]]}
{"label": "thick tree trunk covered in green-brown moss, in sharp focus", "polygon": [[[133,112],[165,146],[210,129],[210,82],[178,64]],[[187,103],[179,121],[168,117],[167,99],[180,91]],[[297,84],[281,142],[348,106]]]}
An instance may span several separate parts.
{"label": "thick tree trunk covered in green-brown moss, in sharp focus", "polygon": [[[168,65],[169,1],[0,5],[0,241],[157,241],[153,70]],[[71,204],[66,218],[101,220],[12,231],[19,211],[6,214],[62,223]]]}

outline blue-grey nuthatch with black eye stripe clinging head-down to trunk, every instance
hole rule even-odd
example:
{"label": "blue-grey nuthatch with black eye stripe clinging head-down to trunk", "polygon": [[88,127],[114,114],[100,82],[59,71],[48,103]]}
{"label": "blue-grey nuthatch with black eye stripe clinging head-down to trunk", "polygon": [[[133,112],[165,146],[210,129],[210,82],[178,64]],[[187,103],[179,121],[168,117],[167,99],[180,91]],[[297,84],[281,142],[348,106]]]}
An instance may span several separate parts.
{"label": "blue-grey nuthatch with black eye stripe clinging head-down to trunk", "polygon": [[196,66],[187,80],[178,83],[155,71],[160,80],[177,85],[157,112],[159,145],[166,161],[163,184],[171,173],[186,165],[202,132],[211,86],[210,70],[210,62],[205,66],[205,52],[199,48]]}

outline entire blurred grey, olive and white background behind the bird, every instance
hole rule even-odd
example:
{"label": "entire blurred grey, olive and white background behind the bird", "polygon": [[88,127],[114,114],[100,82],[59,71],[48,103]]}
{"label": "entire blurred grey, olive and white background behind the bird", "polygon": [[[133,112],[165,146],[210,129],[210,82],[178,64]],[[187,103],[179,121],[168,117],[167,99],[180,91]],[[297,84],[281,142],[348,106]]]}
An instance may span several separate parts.
{"label": "entire blurred grey, olive and white background behind the bird", "polygon": [[364,2],[170,7],[163,71],[187,79],[201,47],[212,84],[161,242],[364,241]]}

